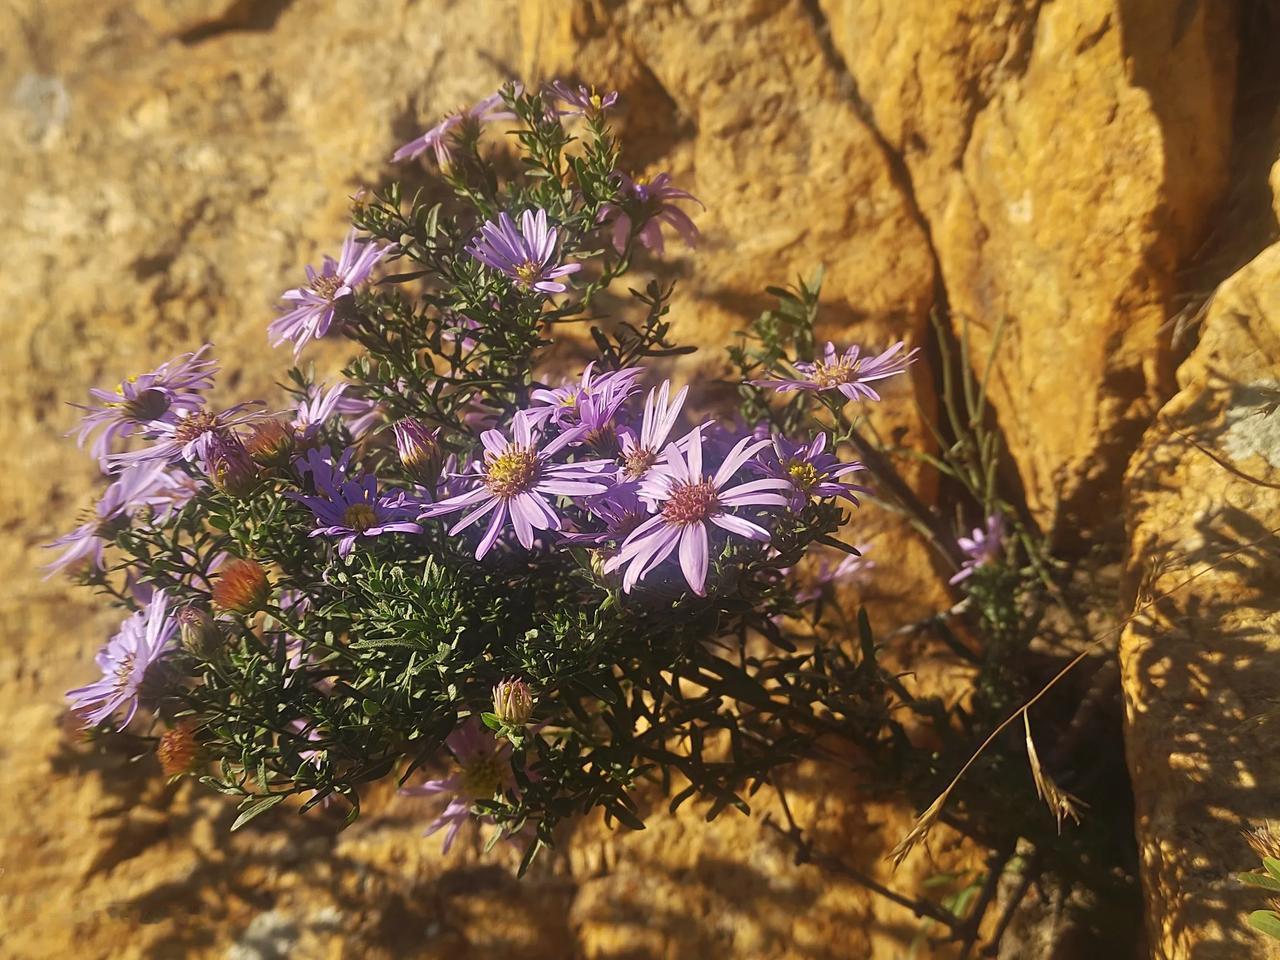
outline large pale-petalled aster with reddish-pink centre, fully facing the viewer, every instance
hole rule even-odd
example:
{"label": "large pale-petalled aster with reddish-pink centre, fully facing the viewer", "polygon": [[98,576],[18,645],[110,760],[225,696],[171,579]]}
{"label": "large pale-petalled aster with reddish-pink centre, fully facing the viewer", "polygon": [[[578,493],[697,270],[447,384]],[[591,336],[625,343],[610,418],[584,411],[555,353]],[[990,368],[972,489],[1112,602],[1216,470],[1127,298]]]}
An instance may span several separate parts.
{"label": "large pale-petalled aster with reddish-pink centre, fully facing the viewer", "polygon": [[652,500],[658,512],[637,526],[622,543],[618,556],[605,572],[626,567],[623,591],[630,593],[640,580],[667,557],[680,550],[680,568],[689,588],[704,596],[707,567],[710,554],[708,524],[749,540],[768,541],[769,532],[750,520],[730,513],[736,507],[786,507],[790,484],[767,477],[727,486],[739,468],[768,440],[744,436],[728,452],[710,476],[703,474],[701,428],[695,428],[684,453],[676,444],[667,444],[666,463],[640,484],[640,495]]}

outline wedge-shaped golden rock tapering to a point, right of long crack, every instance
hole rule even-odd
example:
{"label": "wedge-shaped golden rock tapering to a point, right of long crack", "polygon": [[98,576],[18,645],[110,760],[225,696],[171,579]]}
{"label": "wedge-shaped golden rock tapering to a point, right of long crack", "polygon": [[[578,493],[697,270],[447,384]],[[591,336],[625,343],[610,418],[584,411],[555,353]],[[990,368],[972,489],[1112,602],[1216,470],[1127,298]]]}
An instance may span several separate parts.
{"label": "wedge-shaped golden rock tapering to a point, right of long crack", "polygon": [[910,174],[954,326],[1047,530],[1116,516],[1179,259],[1226,183],[1234,5],[822,0]]}

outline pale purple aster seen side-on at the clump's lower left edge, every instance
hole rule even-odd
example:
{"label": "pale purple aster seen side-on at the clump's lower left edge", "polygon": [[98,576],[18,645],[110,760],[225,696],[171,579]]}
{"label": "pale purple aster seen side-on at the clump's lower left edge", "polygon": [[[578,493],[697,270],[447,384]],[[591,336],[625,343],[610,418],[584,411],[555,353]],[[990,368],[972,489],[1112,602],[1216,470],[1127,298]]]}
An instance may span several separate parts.
{"label": "pale purple aster seen side-on at the clump's lower left edge", "polygon": [[67,694],[72,710],[84,718],[86,726],[96,726],[125,708],[123,730],[138,710],[138,694],[147,668],[168,650],[178,634],[178,621],[169,616],[169,598],[156,590],[145,609],[138,611],[120,626],[97,657],[102,678]]}

